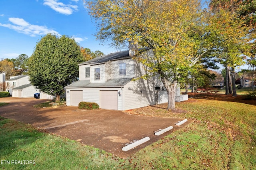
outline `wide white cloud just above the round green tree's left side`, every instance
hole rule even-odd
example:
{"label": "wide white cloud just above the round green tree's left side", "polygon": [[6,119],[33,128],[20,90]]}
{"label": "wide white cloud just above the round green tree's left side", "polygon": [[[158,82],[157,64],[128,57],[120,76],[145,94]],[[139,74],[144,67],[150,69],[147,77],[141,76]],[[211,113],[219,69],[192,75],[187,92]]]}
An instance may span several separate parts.
{"label": "wide white cloud just above the round green tree's left side", "polygon": [[19,33],[26,34],[26,35],[29,35],[32,37],[44,36],[48,33],[60,35],[60,34],[58,34],[58,32],[56,32],[52,29],[48,29],[46,26],[38,26],[38,25],[29,24],[22,18],[9,18],[9,21],[12,22],[12,24],[0,23],[0,26],[10,28]]}

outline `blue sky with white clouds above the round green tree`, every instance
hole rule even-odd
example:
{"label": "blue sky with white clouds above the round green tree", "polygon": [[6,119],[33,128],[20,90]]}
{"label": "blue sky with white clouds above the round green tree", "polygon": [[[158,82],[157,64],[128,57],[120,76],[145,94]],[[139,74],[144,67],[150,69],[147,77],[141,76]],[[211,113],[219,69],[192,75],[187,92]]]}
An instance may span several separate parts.
{"label": "blue sky with white clouds above the round green tree", "polygon": [[47,33],[70,36],[91,51],[116,52],[96,41],[83,0],[0,0],[0,59],[30,57]]}

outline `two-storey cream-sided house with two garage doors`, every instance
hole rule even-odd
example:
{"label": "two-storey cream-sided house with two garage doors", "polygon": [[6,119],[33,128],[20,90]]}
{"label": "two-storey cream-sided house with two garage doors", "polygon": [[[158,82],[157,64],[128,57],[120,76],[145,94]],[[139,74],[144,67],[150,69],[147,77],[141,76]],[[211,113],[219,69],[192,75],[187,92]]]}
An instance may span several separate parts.
{"label": "two-storey cream-sided house with two garage doors", "polygon": [[[66,86],[66,103],[78,106],[81,101],[95,102],[102,109],[129,110],[166,103],[167,93],[156,77],[138,79],[145,74],[145,65],[132,59],[134,48],[96,57],[79,64],[79,81]],[[153,55],[151,49],[139,55]],[[188,99],[178,90],[176,101]]]}

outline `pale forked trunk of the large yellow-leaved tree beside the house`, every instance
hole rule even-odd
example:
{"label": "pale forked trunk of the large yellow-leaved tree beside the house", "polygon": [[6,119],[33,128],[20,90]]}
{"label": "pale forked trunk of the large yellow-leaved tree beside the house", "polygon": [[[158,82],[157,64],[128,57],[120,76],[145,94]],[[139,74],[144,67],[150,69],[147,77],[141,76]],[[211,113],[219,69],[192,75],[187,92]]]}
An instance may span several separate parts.
{"label": "pale forked trunk of the large yellow-leaved tree beside the house", "polygon": [[167,111],[171,111],[175,109],[175,90],[177,86],[177,82],[173,81],[172,83],[167,79],[161,77],[164,87],[166,88],[167,96],[168,96],[168,107]]}

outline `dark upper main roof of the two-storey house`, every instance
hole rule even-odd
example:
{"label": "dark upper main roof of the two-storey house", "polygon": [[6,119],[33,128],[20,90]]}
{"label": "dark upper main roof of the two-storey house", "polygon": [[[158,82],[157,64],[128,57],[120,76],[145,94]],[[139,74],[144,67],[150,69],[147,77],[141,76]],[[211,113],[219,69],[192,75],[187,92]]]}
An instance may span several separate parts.
{"label": "dark upper main roof of the two-storey house", "polygon": [[[146,51],[150,48],[148,47],[143,47],[139,49],[139,52]],[[105,63],[106,61],[114,60],[114,59],[124,59],[130,57],[129,56],[129,50],[126,51],[120,51],[116,53],[110,53],[107,55],[102,55],[100,57],[96,57],[94,59],[90,59],[88,61],[85,61],[83,63],[80,63],[79,65],[85,65],[85,64],[96,64],[96,63]],[[132,57],[130,57],[132,58]]]}

